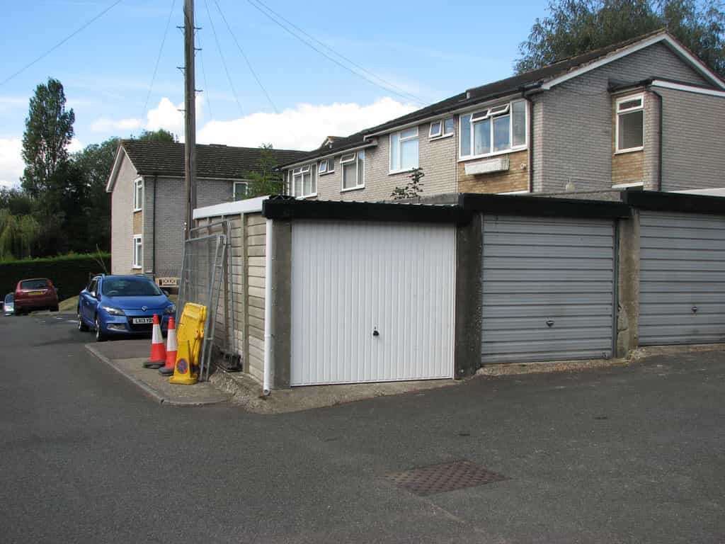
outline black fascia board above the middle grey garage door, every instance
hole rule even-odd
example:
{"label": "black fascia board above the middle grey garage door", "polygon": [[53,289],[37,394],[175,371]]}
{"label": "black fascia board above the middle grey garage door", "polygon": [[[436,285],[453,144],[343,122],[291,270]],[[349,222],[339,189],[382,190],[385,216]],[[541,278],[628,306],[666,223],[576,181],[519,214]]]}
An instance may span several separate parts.
{"label": "black fascia board above the middle grey garage door", "polygon": [[515,194],[461,193],[458,205],[468,212],[497,215],[537,215],[542,217],[629,218],[631,209],[624,202],[573,198],[531,197]]}

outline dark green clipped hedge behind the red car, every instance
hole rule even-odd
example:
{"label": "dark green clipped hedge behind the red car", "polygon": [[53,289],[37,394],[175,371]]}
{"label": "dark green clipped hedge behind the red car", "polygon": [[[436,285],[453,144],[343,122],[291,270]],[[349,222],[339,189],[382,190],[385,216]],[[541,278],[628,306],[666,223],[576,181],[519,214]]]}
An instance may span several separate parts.
{"label": "dark green clipped hedge behind the red car", "polygon": [[60,300],[75,297],[88,284],[88,274],[111,269],[109,253],[93,255],[62,255],[43,259],[9,260],[0,262],[0,296],[15,290],[17,282],[28,278],[49,278],[58,289]]}

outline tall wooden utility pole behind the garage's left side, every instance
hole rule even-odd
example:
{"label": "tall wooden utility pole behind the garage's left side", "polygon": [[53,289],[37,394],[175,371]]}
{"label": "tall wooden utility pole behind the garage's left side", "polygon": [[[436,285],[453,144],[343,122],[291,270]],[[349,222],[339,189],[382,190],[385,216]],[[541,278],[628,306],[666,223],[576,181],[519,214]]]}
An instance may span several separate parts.
{"label": "tall wooden utility pole behind the garage's left side", "polygon": [[194,227],[196,207],[196,84],[194,76],[194,0],[183,5],[184,57],[184,194],[186,195],[186,224],[184,238]]}

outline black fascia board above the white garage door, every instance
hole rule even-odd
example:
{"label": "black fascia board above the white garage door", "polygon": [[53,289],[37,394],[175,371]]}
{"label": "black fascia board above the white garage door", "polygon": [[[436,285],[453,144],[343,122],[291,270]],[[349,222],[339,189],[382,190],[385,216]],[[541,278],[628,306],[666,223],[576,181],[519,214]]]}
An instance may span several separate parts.
{"label": "black fascia board above the white garage door", "polygon": [[349,221],[402,221],[408,223],[468,223],[471,215],[455,205],[341,202],[270,198],[262,202],[268,219],[336,219]]}

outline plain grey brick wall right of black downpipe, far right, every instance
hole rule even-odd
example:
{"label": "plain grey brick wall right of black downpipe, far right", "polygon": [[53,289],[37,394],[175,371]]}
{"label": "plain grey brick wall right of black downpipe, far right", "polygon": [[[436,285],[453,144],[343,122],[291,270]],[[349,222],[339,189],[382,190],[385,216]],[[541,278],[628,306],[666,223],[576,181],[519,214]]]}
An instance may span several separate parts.
{"label": "plain grey brick wall right of black downpipe, far right", "polygon": [[662,190],[725,187],[725,98],[657,91],[663,97]]}

